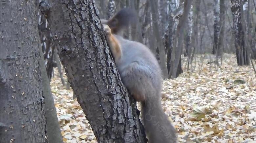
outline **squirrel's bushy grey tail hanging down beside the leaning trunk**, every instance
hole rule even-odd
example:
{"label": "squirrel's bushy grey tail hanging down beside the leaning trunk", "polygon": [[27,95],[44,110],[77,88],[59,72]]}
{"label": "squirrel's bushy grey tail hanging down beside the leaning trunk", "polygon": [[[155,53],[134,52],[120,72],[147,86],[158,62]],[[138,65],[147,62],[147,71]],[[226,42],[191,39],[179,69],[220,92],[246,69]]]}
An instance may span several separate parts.
{"label": "squirrel's bushy grey tail hanging down beside the leaning trunk", "polygon": [[160,95],[146,96],[141,102],[142,122],[147,133],[149,143],[176,143],[176,131],[164,113]]}

